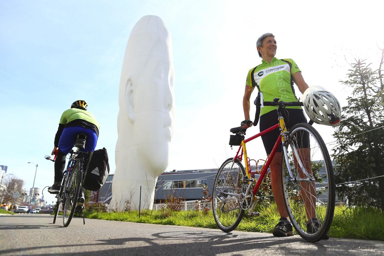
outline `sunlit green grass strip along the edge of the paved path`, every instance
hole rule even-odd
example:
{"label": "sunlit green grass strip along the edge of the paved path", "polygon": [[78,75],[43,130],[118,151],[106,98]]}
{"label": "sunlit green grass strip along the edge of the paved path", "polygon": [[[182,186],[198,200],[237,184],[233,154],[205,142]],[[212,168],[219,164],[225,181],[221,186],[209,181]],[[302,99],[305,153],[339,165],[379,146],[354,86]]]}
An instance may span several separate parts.
{"label": "sunlit green grass strip along the edge of the paved path", "polygon": [[[272,233],[280,218],[276,204],[258,209],[259,217],[244,215],[236,230]],[[129,221],[162,225],[190,226],[200,228],[217,228],[212,211],[208,214],[196,211],[151,211],[142,210],[118,213],[97,213],[84,211],[84,216],[91,219]],[[373,207],[346,208],[337,206],[334,219],[328,232],[331,237],[358,238],[384,241],[384,215],[381,209]]]}

